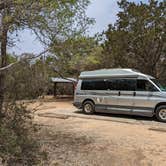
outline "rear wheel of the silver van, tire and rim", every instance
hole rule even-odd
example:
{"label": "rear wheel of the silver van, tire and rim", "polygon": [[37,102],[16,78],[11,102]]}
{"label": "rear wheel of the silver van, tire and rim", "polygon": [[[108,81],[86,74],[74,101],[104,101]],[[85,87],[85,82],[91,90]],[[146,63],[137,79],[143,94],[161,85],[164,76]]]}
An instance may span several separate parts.
{"label": "rear wheel of the silver van, tire and rim", "polygon": [[85,101],[83,103],[83,112],[85,114],[94,114],[95,112],[95,105],[92,101]]}

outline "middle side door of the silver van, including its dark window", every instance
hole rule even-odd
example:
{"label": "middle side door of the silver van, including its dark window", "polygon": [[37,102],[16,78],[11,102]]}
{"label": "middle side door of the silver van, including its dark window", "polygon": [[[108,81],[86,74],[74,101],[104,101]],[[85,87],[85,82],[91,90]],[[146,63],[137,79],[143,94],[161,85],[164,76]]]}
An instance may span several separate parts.
{"label": "middle side door of the silver van, including its dark window", "polygon": [[114,113],[132,112],[134,107],[134,94],[136,88],[135,78],[113,78],[108,80],[108,87],[113,96],[116,98],[112,103],[112,96],[109,100],[109,109]]}

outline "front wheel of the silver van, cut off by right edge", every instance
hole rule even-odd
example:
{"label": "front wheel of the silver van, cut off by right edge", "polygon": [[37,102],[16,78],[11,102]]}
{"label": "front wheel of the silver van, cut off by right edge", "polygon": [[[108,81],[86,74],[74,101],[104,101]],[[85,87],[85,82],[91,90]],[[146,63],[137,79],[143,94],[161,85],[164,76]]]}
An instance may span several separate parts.
{"label": "front wheel of the silver van, cut off by right edge", "polygon": [[160,122],[166,122],[166,105],[159,106],[156,109],[156,118]]}

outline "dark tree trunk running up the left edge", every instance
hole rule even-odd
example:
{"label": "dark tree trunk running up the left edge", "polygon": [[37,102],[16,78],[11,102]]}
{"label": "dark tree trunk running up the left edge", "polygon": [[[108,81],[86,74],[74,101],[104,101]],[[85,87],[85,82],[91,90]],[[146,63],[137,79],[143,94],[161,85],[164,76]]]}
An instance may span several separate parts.
{"label": "dark tree trunk running up the left edge", "polygon": [[[2,24],[1,32],[1,64],[0,67],[7,66],[7,35],[8,35],[8,26]],[[2,113],[3,101],[4,101],[4,86],[5,86],[5,71],[0,72],[0,113]]]}

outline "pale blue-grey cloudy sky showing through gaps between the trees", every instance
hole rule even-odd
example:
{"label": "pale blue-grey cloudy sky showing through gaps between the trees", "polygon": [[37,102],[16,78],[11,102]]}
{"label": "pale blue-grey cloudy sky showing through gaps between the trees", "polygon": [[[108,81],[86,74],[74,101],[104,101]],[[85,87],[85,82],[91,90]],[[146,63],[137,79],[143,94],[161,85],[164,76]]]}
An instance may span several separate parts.
{"label": "pale blue-grey cloudy sky showing through gaps between the trees", "polygon": [[[91,0],[91,4],[88,7],[87,15],[89,17],[95,18],[96,23],[94,26],[90,27],[89,34],[93,35],[97,32],[102,32],[107,29],[108,24],[114,23],[116,21],[116,15],[119,11],[118,0]],[[139,2],[140,0],[130,0],[134,2]],[[147,2],[148,0],[142,0]],[[10,48],[11,53],[20,55],[21,53],[40,53],[44,47],[37,41],[35,35],[30,31],[24,30],[18,36],[20,41],[16,42],[16,46]]]}

